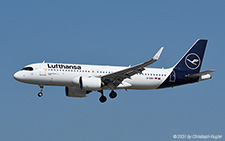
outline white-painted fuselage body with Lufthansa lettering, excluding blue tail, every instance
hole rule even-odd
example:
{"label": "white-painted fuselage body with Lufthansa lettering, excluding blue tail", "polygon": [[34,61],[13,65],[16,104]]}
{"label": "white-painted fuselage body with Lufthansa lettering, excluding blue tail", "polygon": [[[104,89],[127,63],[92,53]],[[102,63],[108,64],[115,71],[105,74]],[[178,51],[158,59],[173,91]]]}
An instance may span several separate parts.
{"label": "white-painted fuselage body with Lufthansa lettering, excluding blue tail", "polygon": [[[50,86],[75,86],[73,79],[77,77],[101,77],[128,67],[80,65],[62,63],[36,63],[26,67],[33,70],[20,70],[14,74],[18,81]],[[26,68],[25,67],[25,68]],[[145,68],[142,73],[126,78],[115,89],[157,89],[171,74],[170,69]],[[102,89],[108,89],[103,87]]]}

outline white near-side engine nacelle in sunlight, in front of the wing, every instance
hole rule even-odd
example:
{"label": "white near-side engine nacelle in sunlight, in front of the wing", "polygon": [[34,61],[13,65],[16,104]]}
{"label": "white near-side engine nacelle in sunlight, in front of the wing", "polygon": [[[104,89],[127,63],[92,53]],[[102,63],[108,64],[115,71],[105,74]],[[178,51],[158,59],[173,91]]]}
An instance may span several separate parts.
{"label": "white near-side engine nacelle in sunlight, in front of the wing", "polygon": [[99,90],[102,86],[101,78],[97,77],[76,77],[73,79],[73,84],[81,90]]}

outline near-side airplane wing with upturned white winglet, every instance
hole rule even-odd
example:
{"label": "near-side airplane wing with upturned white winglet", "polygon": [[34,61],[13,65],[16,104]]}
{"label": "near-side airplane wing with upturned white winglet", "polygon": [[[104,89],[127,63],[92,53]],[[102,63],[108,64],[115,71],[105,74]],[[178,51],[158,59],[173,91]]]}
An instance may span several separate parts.
{"label": "near-side airplane wing with upturned white winglet", "polygon": [[101,77],[102,82],[106,86],[108,86],[109,88],[114,89],[124,79],[130,78],[132,75],[135,75],[137,73],[141,73],[143,70],[145,70],[144,67],[156,62],[159,59],[159,57],[160,57],[160,55],[163,51],[163,48],[164,47],[161,47],[159,49],[159,51],[155,54],[155,56],[149,61],[146,61],[144,63],[141,63],[141,64],[138,64],[138,65],[135,65],[135,66],[132,66],[132,67],[129,67],[129,68],[126,68],[126,69],[123,69],[123,70],[120,70],[120,71],[102,76]]}

